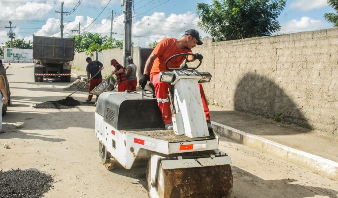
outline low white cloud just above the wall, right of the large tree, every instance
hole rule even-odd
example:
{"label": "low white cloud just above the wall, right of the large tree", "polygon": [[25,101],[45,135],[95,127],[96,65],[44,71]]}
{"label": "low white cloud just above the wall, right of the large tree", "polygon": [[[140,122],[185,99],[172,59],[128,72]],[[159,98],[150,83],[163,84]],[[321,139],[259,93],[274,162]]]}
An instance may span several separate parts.
{"label": "low white cloud just above the wall, right of the large tree", "polygon": [[281,23],[284,33],[318,30],[325,26],[321,20],[311,19],[310,17],[302,17],[300,20],[292,19],[286,23]]}

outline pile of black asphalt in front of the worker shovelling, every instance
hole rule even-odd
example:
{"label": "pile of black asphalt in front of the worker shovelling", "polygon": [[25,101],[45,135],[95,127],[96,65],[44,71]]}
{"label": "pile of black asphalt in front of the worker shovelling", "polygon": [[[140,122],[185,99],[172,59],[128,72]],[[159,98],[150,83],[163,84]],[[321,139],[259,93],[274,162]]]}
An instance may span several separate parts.
{"label": "pile of black asphalt in front of the worker shovelling", "polygon": [[93,102],[79,102],[72,97],[67,97],[62,100],[56,101],[47,101],[40,104],[36,104],[33,106],[34,108],[53,108],[53,109],[67,109],[74,108],[75,106],[85,106],[85,105],[93,105]]}

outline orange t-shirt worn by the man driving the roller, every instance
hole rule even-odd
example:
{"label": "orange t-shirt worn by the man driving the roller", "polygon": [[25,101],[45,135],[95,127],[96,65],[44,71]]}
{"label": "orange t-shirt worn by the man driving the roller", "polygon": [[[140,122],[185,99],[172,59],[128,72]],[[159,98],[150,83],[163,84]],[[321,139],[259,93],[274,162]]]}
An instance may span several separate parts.
{"label": "orange t-shirt worn by the man driving the roller", "polygon": [[[150,71],[150,78],[155,73],[159,73],[162,71],[168,71],[165,63],[173,55],[180,54],[180,53],[192,53],[192,51],[188,48],[179,49],[176,46],[176,39],[175,38],[166,38],[160,41],[160,43],[155,47],[152,51],[153,54],[157,56],[152,64],[152,68]],[[167,67],[179,67],[183,61],[186,59],[186,56],[176,56],[172,58]]]}

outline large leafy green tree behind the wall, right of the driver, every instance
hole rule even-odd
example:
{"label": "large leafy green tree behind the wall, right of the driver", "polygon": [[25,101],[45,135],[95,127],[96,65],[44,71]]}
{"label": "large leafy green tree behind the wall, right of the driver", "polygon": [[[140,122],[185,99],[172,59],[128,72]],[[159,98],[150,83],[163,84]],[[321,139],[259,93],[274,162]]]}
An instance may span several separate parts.
{"label": "large leafy green tree behind the wall, right of the driver", "polygon": [[278,16],[286,0],[214,0],[197,3],[198,26],[216,41],[271,35],[281,29]]}

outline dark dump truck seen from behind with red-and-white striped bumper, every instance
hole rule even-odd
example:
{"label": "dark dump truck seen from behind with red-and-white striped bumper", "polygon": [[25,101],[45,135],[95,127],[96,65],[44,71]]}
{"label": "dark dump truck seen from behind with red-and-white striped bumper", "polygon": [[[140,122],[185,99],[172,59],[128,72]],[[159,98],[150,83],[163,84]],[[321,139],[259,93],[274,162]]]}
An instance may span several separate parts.
{"label": "dark dump truck seen from behind with red-and-white striped bumper", "polygon": [[59,78],[70,82],[74,39],[33,36],[34,81]]}

